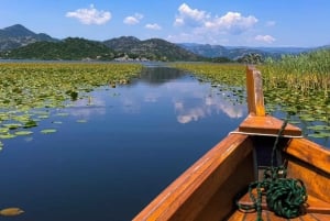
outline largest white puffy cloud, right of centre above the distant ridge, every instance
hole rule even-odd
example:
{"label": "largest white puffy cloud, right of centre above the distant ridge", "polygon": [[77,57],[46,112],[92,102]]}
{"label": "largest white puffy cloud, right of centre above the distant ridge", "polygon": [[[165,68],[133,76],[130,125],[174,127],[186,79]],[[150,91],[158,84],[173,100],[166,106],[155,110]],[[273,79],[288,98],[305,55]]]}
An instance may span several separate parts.
{"label": "largest white puffy cloud, right of centre above the distant ridge", "polygon": [[193,41],[189,42],[198,41],[210,44],[224,43],[224,40],[228,38],[234,41],[232,35],[240,36],[252,30],[258,22],[254,15],[243,15],[234,11],[229,11],[222,15],[212,15],[208,11],[191,9],[186,3],[179,5],[177,10],[178,13],[173,24],[185,34],[168,36],[176,42],[185,42],[190,37]]}

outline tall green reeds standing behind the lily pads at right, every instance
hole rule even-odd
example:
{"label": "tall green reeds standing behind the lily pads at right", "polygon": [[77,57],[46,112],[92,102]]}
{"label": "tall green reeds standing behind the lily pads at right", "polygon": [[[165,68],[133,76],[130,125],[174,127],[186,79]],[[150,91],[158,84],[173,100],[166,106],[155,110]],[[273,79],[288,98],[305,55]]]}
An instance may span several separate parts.
{"label": "tall green reeds standing behind the lily pads at right", "polygon": [[280,86],[302,95],[314,95],[317,90],[329,96],[330,49],[287,55],[278,62],[267,59],[261,69],[270,87]]}

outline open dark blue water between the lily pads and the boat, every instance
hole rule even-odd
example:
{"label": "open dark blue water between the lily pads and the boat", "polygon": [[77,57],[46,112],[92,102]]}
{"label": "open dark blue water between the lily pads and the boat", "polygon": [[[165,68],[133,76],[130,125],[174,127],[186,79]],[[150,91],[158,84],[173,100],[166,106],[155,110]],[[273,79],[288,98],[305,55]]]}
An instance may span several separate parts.
{"label": "open dark blue water between the lily pads and the boat", "polygon": [[[246,108],[230,92],[155,67],[132,85],[98,88],[50,112],[33,135],[2,141],[0,209],[25,212],[1,220],[131,220],[234,130]],[[40,133],[48,128],[57,132]]]}

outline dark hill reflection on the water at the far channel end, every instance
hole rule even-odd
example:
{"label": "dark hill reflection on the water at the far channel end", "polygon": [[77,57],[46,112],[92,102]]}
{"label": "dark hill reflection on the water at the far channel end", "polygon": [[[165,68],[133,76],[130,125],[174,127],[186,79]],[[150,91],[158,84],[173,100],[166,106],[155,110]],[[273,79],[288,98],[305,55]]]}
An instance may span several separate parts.
{"label": "dark hill reflection on the water at the far channel end", "polygon": [[[161,85],[185,76],[186,73],[172,67],[147,67],[142,70],[140,77],[142,81],[150,85]],[[136,81],[133,81],[138,82]]]}

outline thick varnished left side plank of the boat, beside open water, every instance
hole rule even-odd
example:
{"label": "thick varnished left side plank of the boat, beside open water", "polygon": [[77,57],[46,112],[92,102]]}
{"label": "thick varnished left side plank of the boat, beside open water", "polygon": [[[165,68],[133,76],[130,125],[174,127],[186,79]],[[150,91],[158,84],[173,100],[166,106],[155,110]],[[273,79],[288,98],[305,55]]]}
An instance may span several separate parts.
{"label": "thick varnished left side plank of the boat, beside open water", "polygon": [[252,152],[249,141],[248,136],[242,134],[227,136],[133,220],[194,220],[228,177],[235,173],[240,162]]}

